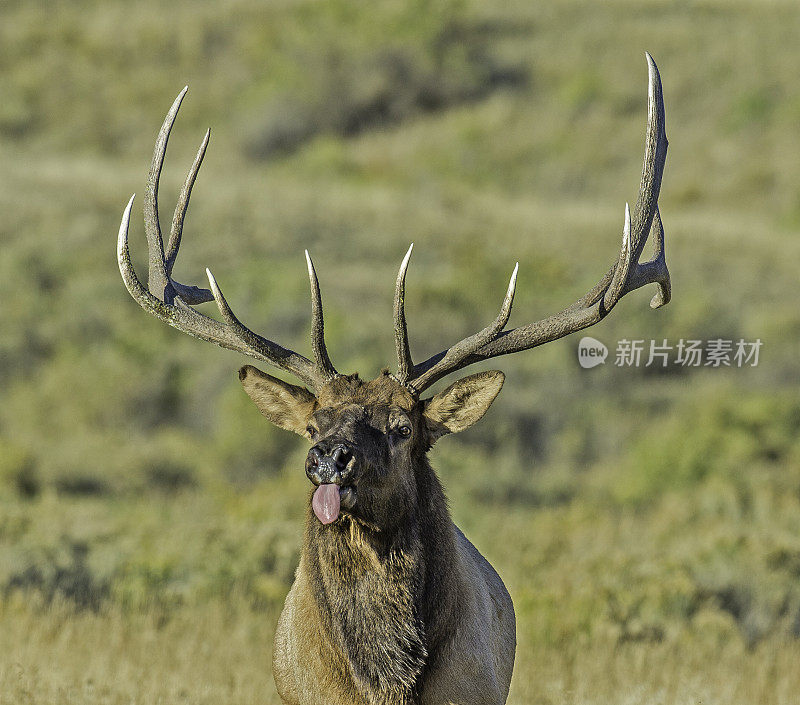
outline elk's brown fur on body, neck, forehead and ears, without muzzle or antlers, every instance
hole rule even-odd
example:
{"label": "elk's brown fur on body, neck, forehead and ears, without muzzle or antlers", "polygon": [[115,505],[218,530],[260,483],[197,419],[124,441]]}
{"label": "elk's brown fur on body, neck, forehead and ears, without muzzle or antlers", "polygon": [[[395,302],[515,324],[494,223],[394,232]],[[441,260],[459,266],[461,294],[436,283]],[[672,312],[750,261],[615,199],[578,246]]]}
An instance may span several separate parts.
{"label": "elk's brown fur on body, neck, forehead and ears, without muzzle or antlers", "polygon": [[[508,694],[514,608],[453,524],[426,452],[477,421],[502,386],[479,373],[420,401],[388,373],[306,390],[245,367],[270,420],[357,449],[358,502],[330,525],[310,508],[273,659],[287,705],[498,705]],[[408,423],[407,439],[392,435]]]}

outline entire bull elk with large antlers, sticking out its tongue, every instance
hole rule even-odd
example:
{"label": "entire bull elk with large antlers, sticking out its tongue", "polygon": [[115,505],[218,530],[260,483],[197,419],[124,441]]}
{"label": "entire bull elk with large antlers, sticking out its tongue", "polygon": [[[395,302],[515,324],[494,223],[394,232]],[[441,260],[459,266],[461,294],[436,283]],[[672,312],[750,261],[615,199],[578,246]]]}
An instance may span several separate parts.
{"label": "entire bull elk with large antlers, sticking out its tongue", "polygon": [[[131,198],[119,229],[122,278],[148,313],[191,336],[268,363],[302,382],[289,384],[246,365],[239,379],[261,413],[304,436],[313,485],[300,565],[275,634],[278,693],[291,705],[495,705],[508,696],[516,648],[514,606],[492,566],[453,523],[427,452],[448,433],[469,428],[503,385],[502,372],[463,377],[430,398],[446,375],[499,355],[535,348],[594,325],[628,292],[654,283],[653,308],[670,298],[658,195],[667,138],[661,80],[647,55],[649,91],[644,167],[622,247],[606,275],[549,318],[506,330],[518,266],[497,318],[424,362],[414,363],[404,312],[403,259],[394,291],[397,371],[373,380],[336,371],[325,346],[322,298],[311,258],[313,360],[263,338],[231,310],[206,270],[209,289],[172,276],[189,197],[208,146],[200,146],[164,246],[158,181],[184,89],[155,146],[144,199],[149,249],[145,287],[131,265]],[[639,259],[653,232],[654,256]],[[194,306],[215,301],[221,320]]]}

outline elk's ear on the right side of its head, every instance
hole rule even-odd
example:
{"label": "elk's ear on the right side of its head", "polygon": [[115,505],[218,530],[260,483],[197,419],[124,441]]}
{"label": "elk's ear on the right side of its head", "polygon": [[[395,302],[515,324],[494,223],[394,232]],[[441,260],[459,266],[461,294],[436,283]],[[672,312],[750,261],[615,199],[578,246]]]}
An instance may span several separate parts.
{"label": "elk's ear on the right side of its head", "polygon": [[458,433],[479,421],[500,392],[505,378],[498,370],[478,372],[426,399],[422,413],[431,445],[445,434]]}

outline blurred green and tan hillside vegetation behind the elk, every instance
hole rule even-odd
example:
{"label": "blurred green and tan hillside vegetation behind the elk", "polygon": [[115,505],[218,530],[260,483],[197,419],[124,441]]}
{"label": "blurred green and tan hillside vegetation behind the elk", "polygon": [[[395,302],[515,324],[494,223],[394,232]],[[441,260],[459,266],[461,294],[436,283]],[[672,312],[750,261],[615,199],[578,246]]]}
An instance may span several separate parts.
{"label": "blurred green and tan hillside vegetation behind the elk", "polygon": [[[303,248],[339,369],[418,358],[616,256],[659,64],[674,300],[592,335],[763,340],[757,367],[496,361],[433,452],[519,621],[513,703],[790,703],[800,689],[800,7],[706,0],[5,0],[0,9],[0,703],[275,703],[304,443],[244,359],[148,317],[115,261],[163,115],[162,219],[212,142],[176,274],[212,265],[307,350]],[[144,272],[141,199],[132,249]],[[211,307],[210,307],[211,308]]]}

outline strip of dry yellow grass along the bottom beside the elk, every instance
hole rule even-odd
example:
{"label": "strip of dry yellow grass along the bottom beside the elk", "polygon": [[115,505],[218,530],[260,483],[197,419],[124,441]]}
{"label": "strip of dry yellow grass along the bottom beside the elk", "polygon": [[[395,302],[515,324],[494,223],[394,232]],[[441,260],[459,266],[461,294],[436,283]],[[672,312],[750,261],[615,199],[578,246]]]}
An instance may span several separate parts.
{"label": "strip of dry yellow grass along the bottom beside the elk", "polygon": [[[16,601],[0,613],[2,705],[281,705],[274,613],[237,601],[152,614]],[[523,615],[520,632],[530,628]],[[522,647],[509,705],[795,705],[800,645],[749,650],[718,625],[671,644],[576,640]]]}

